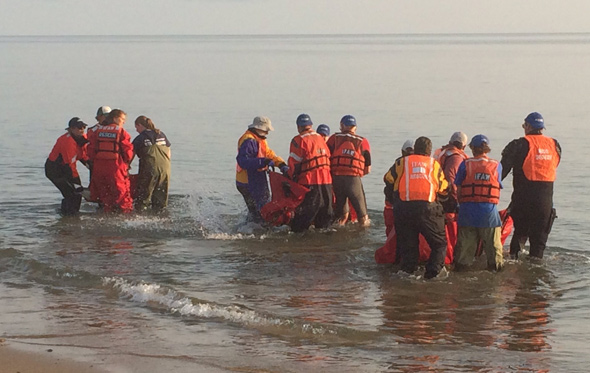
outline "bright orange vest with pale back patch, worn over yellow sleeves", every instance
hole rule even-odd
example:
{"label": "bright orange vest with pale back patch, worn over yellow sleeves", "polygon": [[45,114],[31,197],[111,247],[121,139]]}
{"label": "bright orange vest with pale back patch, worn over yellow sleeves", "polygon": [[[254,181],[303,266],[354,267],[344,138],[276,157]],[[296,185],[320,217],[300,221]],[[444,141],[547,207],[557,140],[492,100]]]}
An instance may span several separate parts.
{"label": "bright orange vest with pale back patch, worn over yellow sleeves", "polygon": [[412,154],[404,157],[404,170],[399,180],[399,198],[402,201],[436,200],[438,181],[434,175],[435,159]]}

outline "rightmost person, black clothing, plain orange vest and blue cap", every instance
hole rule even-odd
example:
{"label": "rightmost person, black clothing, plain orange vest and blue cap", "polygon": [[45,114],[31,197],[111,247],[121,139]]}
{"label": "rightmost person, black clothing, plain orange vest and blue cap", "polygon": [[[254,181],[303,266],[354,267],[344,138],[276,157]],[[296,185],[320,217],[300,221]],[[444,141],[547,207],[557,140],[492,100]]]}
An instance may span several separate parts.
{"label": "rightmost person, black clothing, plain orange vest and blue cap", "polygon": [[561,146],[557,140],[543,135],[545,120],[537,112],[527,115],[522,128],[524,137],[508,143],[501,160],[502,180],[512,171],[510,216],[514,233],[510,256],[517,259],[528,239],[530,257],[542,259],[556,217],[553,183],[561,160]]}

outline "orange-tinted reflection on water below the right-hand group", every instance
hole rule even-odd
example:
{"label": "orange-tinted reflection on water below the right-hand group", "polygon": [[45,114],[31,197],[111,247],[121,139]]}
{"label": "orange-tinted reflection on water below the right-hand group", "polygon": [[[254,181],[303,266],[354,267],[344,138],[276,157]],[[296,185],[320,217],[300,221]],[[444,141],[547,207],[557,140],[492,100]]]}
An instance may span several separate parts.
{"label": "orange-tinted reflection on water below the right-hand group", "polygon": [[[544,266],[522,262],[507,265],[499,274],[453,273],[443,283],[426,283],[384,271],[379,306],[383,327],[402,344],[462,346],[462,350],[470,351],[472,360],[469,363],[458,356],[465,368],[485,366],[486,358],[478,348],[493,348],[516,352],[516,356],[542,353],[522,355],[522,361],[510,365],[546,371],[550,368],[546,353],[551,351],[553,333],[549,311],[552,276]],[[399,358],[403,363],[396,362],[391,368],[409,371],[431,369],[440,356]]]}

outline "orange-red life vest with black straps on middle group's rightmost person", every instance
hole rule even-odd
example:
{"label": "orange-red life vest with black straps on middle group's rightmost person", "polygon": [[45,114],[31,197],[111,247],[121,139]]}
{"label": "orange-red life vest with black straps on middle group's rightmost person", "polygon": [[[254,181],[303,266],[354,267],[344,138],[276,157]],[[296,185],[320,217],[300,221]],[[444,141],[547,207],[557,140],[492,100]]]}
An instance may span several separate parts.
{"label": "orange-red life vest with black straps on middle group's rightmost person", "polygon": [[352,133],[334,134],[334,152],[330,157],[333,175],[363,176],[365,174],[362,142],[362,137]]}

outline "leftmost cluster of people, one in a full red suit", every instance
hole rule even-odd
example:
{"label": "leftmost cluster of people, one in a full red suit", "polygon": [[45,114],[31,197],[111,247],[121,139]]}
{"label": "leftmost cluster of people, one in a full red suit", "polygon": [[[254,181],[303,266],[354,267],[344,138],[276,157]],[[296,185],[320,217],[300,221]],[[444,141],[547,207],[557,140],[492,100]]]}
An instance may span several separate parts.
{"label": "leftmost cluster of people, one in a full red suit", "polygon": [[[135,119],[138,136],[123,128],[127,114],[101,106],[96,125],[88,128],[74,117],[45,162],[45,175],[63,195],[62,215],[76,215],[82,197],[98,203],[104,212],[160,212],[168,204],[170,142],[144,115]],[[139,158],[139,171],[129,175],[129,165]],[[84,189],[76,168],[80,161],[90,170],[89,188]]]}

